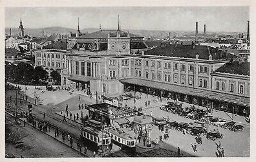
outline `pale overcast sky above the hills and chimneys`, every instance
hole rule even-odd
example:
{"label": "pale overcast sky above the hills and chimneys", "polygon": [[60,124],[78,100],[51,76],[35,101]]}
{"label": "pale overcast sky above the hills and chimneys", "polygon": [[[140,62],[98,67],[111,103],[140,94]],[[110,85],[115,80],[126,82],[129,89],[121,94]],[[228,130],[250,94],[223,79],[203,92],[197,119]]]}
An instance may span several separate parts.
{"label": "pale overcast sky above the hills and chimneys", "polygon": [[116,29],[120,15],[121,28],[129,30],[198,30],[246,31],[249,7],[81,7],[81,8],[6,8],[6,27],[25,28],[62,26],[80,29]]}

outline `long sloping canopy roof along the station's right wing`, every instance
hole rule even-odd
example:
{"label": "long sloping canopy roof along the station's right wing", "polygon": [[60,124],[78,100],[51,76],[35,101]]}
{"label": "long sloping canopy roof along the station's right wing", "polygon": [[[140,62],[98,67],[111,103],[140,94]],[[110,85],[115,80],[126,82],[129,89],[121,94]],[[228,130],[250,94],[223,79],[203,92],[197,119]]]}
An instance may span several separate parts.
{"label": "long sloping canopy roof along the station's right wing", "polygon": [[250,107],[250,98],[244,97],[244,96],[229,95],[229,94],[218,93],[214,91],[208,91],[204,89],[195,89],[193,87],[185,87],[180,85],[155,82],[152,80],[144,80],[140,78],[123,79],[123,80],[120,80],[120,82],[127,83],[127,84],[141,85],[145,87],[153,87],[156,89],[163,89],[165,91],[182,93],[184,95],[200,96],[203,98],[209,98],[211,100],[220,100],[223,102],[229,102],[232,104],[238,104],[238,105]]}

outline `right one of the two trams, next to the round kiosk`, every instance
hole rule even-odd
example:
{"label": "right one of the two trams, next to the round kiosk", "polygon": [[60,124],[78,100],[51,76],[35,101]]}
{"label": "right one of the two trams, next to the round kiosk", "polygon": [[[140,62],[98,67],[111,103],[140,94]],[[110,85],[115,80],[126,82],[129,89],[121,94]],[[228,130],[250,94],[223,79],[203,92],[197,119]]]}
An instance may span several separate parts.
{"label": "right one of the two trams, next to the round kiosk", "polygon": [[106,131],[111,136],[111,142],[121,147],[122,150],[135,154],[136,134],[128,129],[107,128]]}

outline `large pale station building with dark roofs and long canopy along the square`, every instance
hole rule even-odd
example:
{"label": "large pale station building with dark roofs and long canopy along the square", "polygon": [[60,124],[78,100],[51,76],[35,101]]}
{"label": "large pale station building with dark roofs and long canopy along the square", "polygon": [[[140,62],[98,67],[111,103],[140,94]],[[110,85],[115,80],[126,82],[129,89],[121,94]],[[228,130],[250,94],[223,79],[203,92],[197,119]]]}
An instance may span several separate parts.
{"label": "large pale station building with dark roofs and long canopy along the square", "polygon": [[[192,42],[150,49],[143,37],[118,27],[70,37],[67,49],[62,51],[37,50],[43,52],[46,54],[42,57],[47,53],[63,54],[61,85],[88,95],[121,95],[136,89],[230,113],[250,114],[249,66],[239,73],[232,69],[235,64],[230,71],[218,71],[232,62],[249,63],[218,48]],[[38,61],[47,66],[47,58],[39,54]]]}

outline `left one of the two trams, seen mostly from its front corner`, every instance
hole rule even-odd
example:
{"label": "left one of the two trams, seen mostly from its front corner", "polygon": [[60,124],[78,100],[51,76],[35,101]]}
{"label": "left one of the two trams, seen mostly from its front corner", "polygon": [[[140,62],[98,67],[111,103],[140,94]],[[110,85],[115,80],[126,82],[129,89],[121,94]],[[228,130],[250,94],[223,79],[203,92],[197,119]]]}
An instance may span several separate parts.
{"label": "left one of the two trams, seen mostly from its front corner", "polygon": [[81,127],[81,141],[90,150],[109,152],[112,149],[111,136],[94,127]]}

